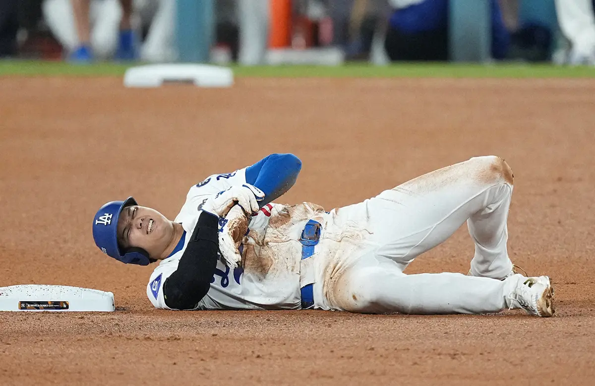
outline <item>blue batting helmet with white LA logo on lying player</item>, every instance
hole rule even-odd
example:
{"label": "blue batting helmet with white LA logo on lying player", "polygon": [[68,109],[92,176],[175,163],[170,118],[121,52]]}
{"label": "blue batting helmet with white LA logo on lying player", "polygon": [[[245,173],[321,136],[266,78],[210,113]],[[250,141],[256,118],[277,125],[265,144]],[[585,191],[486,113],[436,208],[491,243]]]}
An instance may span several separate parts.
{"label": "blue batting helmet with white LA logo on lying player", "polygon": [[126,264],[148,265],[149,254],[142,248],[130,248],[122,251],[118,246],[118,217],[123,208],[137,205],[134,198],[126,201],[111,201],[95,214],[93,219],[93,239],[95,244],[108,256]]}

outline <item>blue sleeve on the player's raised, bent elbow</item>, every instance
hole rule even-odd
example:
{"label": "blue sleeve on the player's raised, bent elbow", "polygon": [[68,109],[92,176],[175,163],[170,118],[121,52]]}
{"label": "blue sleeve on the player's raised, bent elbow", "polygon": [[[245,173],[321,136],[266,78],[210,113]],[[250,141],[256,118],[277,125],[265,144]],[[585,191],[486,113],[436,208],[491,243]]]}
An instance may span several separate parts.
{"label": "blue sleeve on the player's raised, bent elbow", "polygon": [[246,182],[264,192],[260,207],[287,192],[302,170],[302,161],[293,154],[271,154],[246,168]]}

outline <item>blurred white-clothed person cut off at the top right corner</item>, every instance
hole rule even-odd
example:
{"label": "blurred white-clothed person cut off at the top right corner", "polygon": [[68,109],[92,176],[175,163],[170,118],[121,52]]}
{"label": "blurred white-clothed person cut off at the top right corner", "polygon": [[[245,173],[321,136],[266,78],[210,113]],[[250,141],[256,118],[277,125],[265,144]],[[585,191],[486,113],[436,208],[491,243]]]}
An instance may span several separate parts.
{"label": "blurred white-clothed person cut off at the top right corner", "polygon": [[556,0],[556,14],[570,43],[565,63],[595,66],[595,14],[591,0]]}

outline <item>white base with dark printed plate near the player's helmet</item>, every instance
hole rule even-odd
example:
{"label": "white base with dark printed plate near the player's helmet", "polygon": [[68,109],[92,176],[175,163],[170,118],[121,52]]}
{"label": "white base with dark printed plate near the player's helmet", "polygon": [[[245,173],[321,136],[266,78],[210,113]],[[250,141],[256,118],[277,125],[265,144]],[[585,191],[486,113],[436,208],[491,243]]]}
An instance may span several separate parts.
{"label": "white base with dark printed plate near the player's helmet", "polygon": [[43,284],[0,287],[0,311],[111,312],[114,310],[112,292]]}

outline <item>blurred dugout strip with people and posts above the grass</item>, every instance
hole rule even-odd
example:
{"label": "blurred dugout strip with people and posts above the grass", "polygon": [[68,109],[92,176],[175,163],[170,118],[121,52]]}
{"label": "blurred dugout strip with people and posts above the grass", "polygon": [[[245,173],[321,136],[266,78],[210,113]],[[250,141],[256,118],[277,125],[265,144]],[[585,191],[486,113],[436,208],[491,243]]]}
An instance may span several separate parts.
{"label": "blurred dugout strip with people and posts above the grass", "polygon": [[595,65],[595,0],[0,0],[0,56]]}

